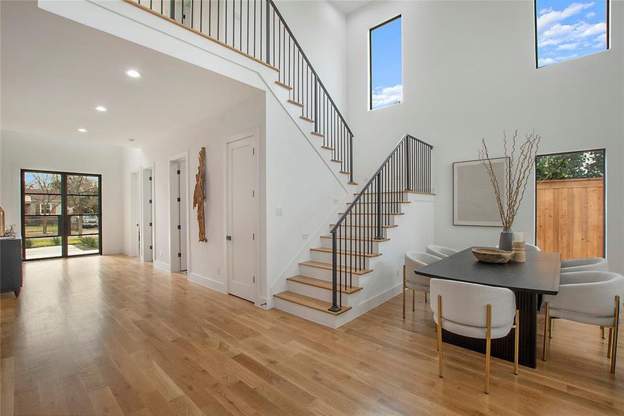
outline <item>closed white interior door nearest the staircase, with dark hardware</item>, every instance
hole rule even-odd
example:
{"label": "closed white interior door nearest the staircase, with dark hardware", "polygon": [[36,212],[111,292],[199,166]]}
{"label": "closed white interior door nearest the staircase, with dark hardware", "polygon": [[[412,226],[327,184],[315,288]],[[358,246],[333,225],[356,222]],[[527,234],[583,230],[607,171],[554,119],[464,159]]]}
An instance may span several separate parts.
{"label": "closed white interior door nearest the staircase, with dark hardware", "polygon": [[228,291],[256,301],[258,204],[256,203],[256,137],[227,144]]}

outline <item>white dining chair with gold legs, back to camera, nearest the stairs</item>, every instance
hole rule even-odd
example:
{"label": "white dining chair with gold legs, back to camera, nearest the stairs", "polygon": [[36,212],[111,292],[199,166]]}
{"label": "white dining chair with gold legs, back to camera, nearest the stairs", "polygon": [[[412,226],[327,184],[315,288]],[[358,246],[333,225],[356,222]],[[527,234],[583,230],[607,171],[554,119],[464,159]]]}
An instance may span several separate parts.
{"label": "white dining chair with gold legs, back to camera, nearest the stairs", "polygon": [[442,330],[485,340],[485,392],[490,392],[492,339],[503,338],[515,328],[513,374],[518,374],[519,311],[508,288],[444,279],[431,279],[431,311],[438,326],[438,376],[443,376]]}

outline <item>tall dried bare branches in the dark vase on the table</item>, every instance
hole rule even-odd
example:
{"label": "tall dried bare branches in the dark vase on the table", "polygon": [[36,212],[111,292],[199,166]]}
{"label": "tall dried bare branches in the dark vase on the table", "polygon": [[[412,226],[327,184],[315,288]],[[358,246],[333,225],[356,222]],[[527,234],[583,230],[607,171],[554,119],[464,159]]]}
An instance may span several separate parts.
{"label": "tall dried bare branches in the dark vase on the table", "polygon": [[502,178],[507,187],[503,191],[501,191],[496,173],[494,173],[485,139],[481,139],[482,147],[479,149],[479,160],[485,166],[485,170],[488,171],[492,187],[494,187],[494,195],[499,205],[499,213],[501,214],[501,222],[504,229],[510,229],[516,217],[520,202],[522,202],[524,197],[528,178],[531,176],[531,169],[535,164],[535,154],[542,139],[540,135],[531,132],[525,136],[524,143],[517,147],[517,137],[517,129],[511,139],[508,139],[507,133],[503,131],[503,148],[505,158],[507,159],[505,177]]}

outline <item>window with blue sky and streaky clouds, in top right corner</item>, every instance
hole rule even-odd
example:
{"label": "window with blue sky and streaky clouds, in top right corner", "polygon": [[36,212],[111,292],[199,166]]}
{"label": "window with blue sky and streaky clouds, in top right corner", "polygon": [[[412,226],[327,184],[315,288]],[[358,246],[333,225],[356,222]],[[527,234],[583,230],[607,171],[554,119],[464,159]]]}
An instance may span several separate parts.
{"label": "window with blue sky and streaky clouds, in top right corner", "polygon": [[536,0],[537,67],[607,49],[607,6],[605,0]]}

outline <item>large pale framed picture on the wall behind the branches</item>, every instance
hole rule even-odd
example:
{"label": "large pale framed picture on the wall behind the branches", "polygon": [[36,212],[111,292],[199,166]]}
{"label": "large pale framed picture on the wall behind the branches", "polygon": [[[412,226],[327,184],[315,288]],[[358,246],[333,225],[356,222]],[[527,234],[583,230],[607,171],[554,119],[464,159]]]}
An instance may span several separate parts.
{"label": "large pale framed picture on the wall behind the branches", "polygon": [[[497,157],[491,161],[505,205],[507,195],[505,171],[508,168],[508,157]],[[503,226],[494,188],[481,160],[453,163],[453,225]]]}

